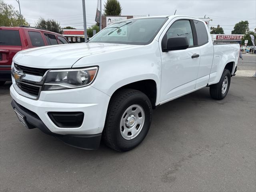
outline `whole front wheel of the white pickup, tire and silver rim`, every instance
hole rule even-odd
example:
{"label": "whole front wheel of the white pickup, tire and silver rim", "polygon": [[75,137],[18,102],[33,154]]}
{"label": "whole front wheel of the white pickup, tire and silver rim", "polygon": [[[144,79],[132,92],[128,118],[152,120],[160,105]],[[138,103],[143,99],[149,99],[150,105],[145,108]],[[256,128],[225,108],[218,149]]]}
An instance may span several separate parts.
{"label": "whole front wheel of the white pickup, tire and silver rim", "polygon": [[138,90],[122,89],[110,100],[103,139],[114,150],[131,150],[146,137],[151,119],[148,97]]}

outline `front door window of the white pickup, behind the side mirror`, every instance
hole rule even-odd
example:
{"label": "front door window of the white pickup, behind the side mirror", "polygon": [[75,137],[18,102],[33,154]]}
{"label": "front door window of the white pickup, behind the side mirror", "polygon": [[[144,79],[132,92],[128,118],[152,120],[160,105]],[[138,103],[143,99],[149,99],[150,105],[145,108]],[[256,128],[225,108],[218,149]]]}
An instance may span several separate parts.
{"label": "front door window of the white pickup, behind the side mirror", "polygon": [[185,36],[188,38],[189,46],[194,45],[194,39],[193,39],[192,29],[191,29],[189,20],[179,20],[174,22],[174,24],[170,26],[166,34],[167,34],[167,39],[170,37]]}

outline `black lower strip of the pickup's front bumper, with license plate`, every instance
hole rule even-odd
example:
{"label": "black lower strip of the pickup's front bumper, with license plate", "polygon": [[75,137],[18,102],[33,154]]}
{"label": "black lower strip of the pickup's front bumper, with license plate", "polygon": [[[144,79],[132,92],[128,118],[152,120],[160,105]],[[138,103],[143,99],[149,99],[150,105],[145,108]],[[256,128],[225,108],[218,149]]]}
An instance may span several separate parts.
{"label": "black lower strip of the pickup's front bumper, with license plate", "polygon": [[34,112],[22,107],[16,101],[12,100],[12,108],[17,110],[19,113],[25,116],[26,122],[29,129],[39,128],[42,132],[55,136],[56,138],[62,140],[63,142],[84,149],[97,149],[100,145],[101,133],[94,135],[61,135],[51,132],[42,120]]}

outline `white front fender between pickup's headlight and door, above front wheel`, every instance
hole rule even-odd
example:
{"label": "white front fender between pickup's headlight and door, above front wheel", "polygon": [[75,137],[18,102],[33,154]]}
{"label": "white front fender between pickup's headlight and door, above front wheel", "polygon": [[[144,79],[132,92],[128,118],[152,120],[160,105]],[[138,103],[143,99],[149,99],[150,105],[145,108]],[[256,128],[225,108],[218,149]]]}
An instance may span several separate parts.
{"label": "white front fender between pickup's headlight and door, above front wheel", "polygon": [[140,80],[154,80],[159,101],[162,62],[157,41],[145,46],[116,50],[81,58],[74,67],[99,66],[94,88],[112,96],[120,87]]}

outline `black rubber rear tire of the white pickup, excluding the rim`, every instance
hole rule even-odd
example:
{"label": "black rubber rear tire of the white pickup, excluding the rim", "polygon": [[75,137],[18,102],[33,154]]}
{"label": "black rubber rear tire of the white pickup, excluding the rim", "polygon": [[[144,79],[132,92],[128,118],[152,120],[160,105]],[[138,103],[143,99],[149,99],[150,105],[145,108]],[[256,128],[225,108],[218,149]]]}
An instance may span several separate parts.
{"label": "black rubber rear tire of the white pickup, excluding the rim", "polygon": [[[222,84],[225,77],[228,78],[228,83],[227,83],[228,85],[225,89],[225,92],[222,93]],[[230,86],[230,79],[231,79],[230,71],[228,69],[224,69],[222,76],[220,78],[220,81],[217,84],[213,84],[210,86],[210,95],[213,99],[222,100],[226,97],[226,95],[228,94],[229,86]]]}

